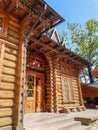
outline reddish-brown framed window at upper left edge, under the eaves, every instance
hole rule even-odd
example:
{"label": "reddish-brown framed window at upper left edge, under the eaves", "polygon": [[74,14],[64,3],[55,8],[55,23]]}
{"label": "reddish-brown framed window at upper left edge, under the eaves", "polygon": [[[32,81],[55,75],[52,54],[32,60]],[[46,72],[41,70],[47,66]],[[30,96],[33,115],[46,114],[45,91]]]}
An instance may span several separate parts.
{"label": "reddish-brown framed window at upper left edge, under the eaves", "polygon": [[7,36],[7,17],[0,12],[0,36]]}

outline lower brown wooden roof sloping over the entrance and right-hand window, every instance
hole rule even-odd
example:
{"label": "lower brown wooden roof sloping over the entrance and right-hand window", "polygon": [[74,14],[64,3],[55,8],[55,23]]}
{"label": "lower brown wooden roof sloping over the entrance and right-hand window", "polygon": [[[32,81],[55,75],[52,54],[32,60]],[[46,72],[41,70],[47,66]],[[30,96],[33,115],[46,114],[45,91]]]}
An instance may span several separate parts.
{"label": "lower brown wooden roof sloping over the entrance and right-hand window", "polygon": [[89,62],[76,55],[69,49],[63,47],[60,43],[57,43],[49,37],[42,35],[41,37],[33,38],[28,43],[28,48],[34,52],[44,53],[45,55],[58,56],[64,62],[69,64],[78,65],[78,67],[85,67],[91,65]]}

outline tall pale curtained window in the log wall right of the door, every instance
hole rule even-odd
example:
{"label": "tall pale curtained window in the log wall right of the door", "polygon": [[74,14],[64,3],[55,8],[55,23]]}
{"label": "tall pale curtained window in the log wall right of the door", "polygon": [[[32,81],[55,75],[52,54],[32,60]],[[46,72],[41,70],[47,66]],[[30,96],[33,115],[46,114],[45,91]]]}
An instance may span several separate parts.
{"label": "tall pale curtained window in the log wall right of the door", "polygon": [[72,81],[70,78],[62,76],[62,90],[64,102],[73,102],[73,88]]}

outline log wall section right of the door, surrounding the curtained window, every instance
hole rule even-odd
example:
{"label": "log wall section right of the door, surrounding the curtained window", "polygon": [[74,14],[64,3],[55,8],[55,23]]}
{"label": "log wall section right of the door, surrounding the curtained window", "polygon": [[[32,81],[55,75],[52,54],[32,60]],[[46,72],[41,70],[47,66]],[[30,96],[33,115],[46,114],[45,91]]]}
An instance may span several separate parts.
{"label": "log wall section right of the door, surrounding the curtained window", "polygon": [[[79,69],[65,62],[60,62],[58,57],[47,57],[46,67],[46,111],[62,112],[62,108],[78,108],[83,105]],[[68,67],[71,72],[62,73],[61,65]],[[71,80],[72,101],[64,101],[62,77]],[[68,83],[67,83],[68,84]]]}

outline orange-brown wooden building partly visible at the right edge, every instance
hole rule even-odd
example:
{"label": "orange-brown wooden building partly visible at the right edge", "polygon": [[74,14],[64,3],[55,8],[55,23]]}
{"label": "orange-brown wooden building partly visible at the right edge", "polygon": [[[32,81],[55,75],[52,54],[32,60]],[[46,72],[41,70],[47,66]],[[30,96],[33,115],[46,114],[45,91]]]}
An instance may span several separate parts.
{"label": "orange-brown wooden building partly visible at the right edge", "polygon": [[[98,64],[92,74],[98,79]],[[84,105],[87,108],[96,108],[98,106],[98,81],[92,84],[82,84],[82,96],[84,100]]]}

